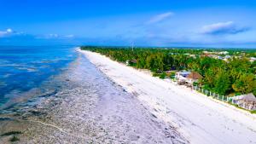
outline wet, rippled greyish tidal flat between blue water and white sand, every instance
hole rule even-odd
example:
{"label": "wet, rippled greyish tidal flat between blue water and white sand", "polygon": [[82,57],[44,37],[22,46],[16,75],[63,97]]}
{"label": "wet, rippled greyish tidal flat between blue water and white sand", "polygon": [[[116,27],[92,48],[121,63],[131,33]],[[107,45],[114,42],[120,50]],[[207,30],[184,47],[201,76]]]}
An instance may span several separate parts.
{"label": "wet, rippled greyish tidal flat between blue water and white sand", "polygon": [[82,54],[44,87],[49,95],[32,107],[0,115],[1,135],[20,131],[17,143],[189,143]]}

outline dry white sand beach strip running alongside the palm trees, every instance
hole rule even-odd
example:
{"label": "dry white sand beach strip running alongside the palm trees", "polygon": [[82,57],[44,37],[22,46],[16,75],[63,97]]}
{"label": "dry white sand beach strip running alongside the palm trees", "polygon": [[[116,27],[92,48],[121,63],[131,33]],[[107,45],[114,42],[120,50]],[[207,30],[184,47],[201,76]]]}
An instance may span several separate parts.
{"label": "dry white sand beach strip running alongside the palm trees", "polygon": [[106,56],[79,51],[113,82],[136,95],[155,117],[174,126],[190,143],[256,143],[256,117],[252,114]]}

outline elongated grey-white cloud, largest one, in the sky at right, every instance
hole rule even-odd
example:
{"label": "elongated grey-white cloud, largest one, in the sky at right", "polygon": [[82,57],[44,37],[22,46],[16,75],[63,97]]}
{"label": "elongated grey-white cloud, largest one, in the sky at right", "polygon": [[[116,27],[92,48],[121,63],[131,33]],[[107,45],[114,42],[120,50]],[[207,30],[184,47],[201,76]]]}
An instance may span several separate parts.
{"label": "elongated grey-white cloud, largest one, in the sky at right", "polygon": [[233,21],[218,22],[215,24],[202,26],[201,33],[219,35],[219,34],[236,34],[248,31],[248,27],[238,27]]}

